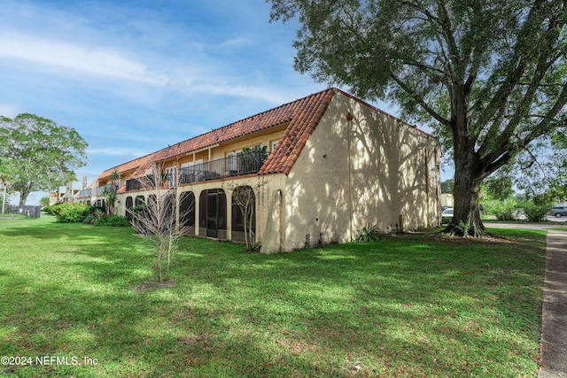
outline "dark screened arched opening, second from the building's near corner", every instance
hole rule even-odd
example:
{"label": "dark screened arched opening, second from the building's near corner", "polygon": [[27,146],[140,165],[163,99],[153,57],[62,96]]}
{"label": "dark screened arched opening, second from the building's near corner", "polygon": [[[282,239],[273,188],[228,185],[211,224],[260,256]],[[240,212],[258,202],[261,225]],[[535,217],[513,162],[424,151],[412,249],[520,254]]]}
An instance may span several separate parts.
{"label": "dark screened arched opening, second from the building's near corner", "polygon": [[227,197],[222,189],[207,189],[199,197],[198,235],[226,239]]}

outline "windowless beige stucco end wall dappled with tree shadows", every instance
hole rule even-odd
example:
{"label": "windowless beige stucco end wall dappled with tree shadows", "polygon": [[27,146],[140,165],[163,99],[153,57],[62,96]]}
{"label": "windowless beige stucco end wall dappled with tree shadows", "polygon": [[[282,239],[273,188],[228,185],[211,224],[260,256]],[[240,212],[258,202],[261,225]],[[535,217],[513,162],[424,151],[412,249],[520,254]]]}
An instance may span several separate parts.
{"label": "windowless beige stucco end wall dappled with tree shadows", "polygon": [[287,178],[282,249],[400,229],[400,216],[405,229],[437,226],[439,185],[433,138],[338,93]]}

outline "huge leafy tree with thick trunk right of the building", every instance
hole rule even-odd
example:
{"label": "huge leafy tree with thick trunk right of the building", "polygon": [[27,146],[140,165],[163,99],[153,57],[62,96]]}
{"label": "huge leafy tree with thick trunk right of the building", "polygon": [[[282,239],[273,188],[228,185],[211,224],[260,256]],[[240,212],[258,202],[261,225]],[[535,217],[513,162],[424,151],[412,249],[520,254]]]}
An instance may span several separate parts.
{"label": "huge leafy tree with thick trunk right of the building", "polygon": [[299,17],[295,67],[432,120],[454,158],[454,221],[485,235],[481,182],[565,127],[567,0],[271,0]]}

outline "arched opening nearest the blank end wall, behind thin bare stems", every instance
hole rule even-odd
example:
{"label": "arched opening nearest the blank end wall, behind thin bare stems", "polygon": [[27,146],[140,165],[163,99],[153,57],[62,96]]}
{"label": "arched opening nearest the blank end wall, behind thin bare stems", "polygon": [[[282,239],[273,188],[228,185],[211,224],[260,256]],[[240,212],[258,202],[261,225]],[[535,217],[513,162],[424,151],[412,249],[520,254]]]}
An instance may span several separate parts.
{"label": "arched opening nearest the blank end wall, behind thin bare stems", "polygon": [[249,186],[232,191],[232,241],[253,245],[256,235],[256,197]]}

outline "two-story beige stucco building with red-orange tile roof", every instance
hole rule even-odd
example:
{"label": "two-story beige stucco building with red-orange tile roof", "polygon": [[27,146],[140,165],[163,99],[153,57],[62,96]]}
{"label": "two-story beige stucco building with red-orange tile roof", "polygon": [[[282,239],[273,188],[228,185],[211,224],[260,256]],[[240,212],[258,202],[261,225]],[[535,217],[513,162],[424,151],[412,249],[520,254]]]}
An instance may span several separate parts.
{"label": "two-story beige stucco building with red-orange tile roof", "polygon": [[139,183],[156,161],[175,178],[178,221],[190,235],[243,241],[232,196],[250,187],[261,251],[293,251],[349,242],[368,225],[438,226],[440,155],[431,135],[326,89],[111,167],[76,200],[103,204],[117,172],[116,210],[126,214],[147,199]]}

